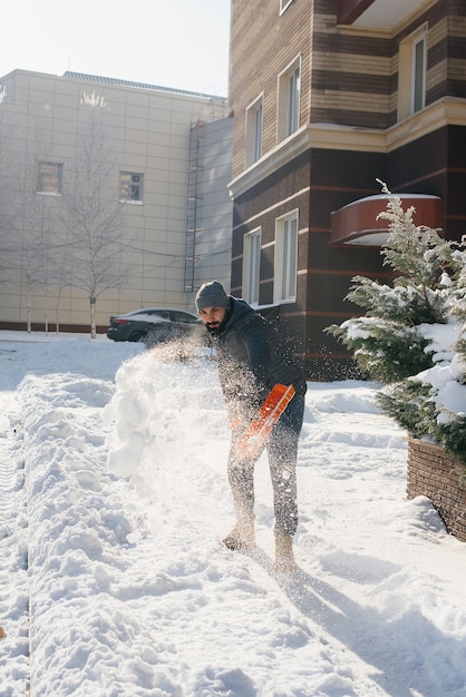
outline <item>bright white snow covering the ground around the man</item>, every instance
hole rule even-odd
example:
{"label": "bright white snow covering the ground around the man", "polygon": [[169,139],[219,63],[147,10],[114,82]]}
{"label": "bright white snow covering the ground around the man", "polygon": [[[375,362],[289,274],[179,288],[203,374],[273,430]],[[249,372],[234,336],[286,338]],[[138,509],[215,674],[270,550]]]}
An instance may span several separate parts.
{"label": "bright white snow covering the ground around the man", "polygon": [[[29,341],[20,341],[29,338]],[[309,384],[299,571],[231,552],[215,362],[0,332],[0,696],[464,697],[466,546],[377,386]]]}

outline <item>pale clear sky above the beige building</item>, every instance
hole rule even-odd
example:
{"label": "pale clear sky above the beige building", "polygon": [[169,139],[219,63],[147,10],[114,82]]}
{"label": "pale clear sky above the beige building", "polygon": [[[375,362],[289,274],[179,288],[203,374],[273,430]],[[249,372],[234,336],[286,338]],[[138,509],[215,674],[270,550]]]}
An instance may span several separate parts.
{"label": "pale clear sky above the beige building", "polygon": [[88,72],[226,97],[230,0],[11,0],[0,77]]}

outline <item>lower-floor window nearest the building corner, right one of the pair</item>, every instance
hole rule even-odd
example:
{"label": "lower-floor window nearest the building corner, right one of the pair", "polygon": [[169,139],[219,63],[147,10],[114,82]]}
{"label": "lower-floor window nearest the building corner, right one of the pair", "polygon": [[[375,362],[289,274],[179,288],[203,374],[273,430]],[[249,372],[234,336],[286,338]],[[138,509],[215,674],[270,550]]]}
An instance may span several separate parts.
{"label": "lower-floor window nearest the building corner, right one of the pair", "polygon": [[298,210],[275,222],[274,302],[297,298]]}

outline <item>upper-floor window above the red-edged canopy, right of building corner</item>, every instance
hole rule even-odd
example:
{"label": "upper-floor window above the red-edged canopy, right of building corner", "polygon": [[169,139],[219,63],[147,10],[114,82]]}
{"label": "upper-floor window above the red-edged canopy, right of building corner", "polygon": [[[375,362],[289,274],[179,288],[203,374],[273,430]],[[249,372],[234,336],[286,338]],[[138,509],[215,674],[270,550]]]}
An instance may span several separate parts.
{"label": "upper-floor window above the red-edged canopy, right of building corner", "polygon": [[398,120],[426,106],[427,24],[423,24],[399,45]]}

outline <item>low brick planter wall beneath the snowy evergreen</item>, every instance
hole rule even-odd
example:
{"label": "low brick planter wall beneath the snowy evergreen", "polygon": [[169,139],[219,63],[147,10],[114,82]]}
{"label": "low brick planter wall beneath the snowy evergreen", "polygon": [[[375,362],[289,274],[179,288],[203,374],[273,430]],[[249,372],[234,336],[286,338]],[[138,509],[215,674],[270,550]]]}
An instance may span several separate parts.
{"label": "low brick planter wall beneath the snowy evergreen", "polygon": [[[462,477],[463,475],[463,477]],[[448,532],[466,542],[466,468],[431,443],[408,440],[408,499],[430,499]]]}

